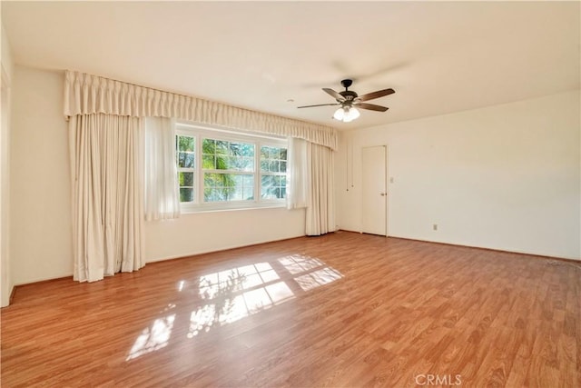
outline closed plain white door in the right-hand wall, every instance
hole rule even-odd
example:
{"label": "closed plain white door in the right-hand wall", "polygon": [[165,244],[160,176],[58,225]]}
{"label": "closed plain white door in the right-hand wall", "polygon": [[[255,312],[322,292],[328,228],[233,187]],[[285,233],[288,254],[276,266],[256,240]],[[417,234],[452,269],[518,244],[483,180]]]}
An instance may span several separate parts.
{"label": "closed plain white door in the right-hand wall", "polygon": [[388,235],[387,147],[364,147],[362,154],[362,232]]}

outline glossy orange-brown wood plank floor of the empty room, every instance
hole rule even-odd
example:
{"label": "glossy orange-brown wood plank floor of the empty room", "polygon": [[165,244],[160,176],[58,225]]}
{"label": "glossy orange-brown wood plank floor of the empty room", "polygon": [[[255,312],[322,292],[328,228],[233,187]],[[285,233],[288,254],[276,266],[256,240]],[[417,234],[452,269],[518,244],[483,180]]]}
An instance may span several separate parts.
{"label": "glossy orange-brown wood plank floor of the empty room", "polygon": [[340,232],[18,287],[2,387],[581,386],[581,264]]}

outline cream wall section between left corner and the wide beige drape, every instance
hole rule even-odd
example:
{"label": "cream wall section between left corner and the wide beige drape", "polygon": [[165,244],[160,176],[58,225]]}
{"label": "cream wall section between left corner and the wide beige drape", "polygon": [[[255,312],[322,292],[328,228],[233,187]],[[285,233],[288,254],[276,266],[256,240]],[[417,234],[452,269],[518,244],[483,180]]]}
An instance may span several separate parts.
{"label": "cream wall section between left corner and the wide beige drape", "polygon": [[15,66],[11,267],[15,284],[73,273],[64,75]]}

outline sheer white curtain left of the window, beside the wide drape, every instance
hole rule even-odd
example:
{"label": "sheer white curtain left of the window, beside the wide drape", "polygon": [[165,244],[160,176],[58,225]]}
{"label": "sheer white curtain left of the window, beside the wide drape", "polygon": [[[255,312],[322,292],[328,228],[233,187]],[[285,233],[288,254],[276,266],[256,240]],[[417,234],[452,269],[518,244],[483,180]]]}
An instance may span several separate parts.
{"label": "sheer white curtain left of the window, beside the wide drape", "polygon": [[180,216],[173,120],[145,118],[145,219]]}

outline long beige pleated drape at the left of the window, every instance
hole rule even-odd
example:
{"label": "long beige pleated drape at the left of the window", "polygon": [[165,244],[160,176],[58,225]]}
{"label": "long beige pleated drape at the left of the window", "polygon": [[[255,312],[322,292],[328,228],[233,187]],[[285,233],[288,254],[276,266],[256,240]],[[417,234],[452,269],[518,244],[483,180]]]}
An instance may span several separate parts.
{"label": "long beige pleated drape at the left of the window", "polygon": [[69,121],[74,280],[132,272],[143,258],[143,120],[110,114]]}

